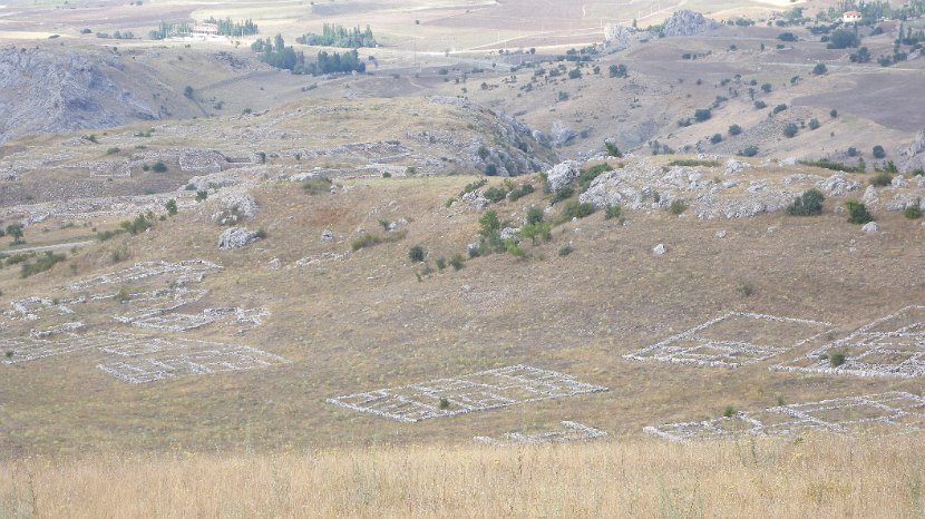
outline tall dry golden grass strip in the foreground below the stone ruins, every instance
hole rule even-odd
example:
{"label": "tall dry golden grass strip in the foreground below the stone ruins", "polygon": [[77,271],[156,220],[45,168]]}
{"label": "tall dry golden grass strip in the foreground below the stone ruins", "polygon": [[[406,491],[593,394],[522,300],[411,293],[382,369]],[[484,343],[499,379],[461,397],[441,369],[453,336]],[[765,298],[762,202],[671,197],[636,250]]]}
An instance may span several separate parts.
{"label": "tall dry golden grass strip in the foreground below the stone ruins", "polygon": [[921,517],[921,437],[0,464],[0,517]]}

